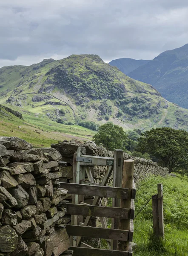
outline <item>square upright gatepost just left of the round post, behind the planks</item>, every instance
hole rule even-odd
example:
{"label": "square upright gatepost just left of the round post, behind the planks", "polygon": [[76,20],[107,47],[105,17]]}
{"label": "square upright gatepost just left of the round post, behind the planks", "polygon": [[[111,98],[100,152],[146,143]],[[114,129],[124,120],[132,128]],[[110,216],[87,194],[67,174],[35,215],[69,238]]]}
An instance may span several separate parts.
{"label": "square upright gatepost just left of the round post, behind the planks", "polygon": [[[113,176],[113,187],[122,187],[122,166],[123,166],[123,151],[114,151],[114,176]],[[120,207],[120,199],[112,199],[113,207]],[[111,219],[111,228],[119,229],[119,218]],[[111,250],[117,250],[117,240],[111,240]]]}

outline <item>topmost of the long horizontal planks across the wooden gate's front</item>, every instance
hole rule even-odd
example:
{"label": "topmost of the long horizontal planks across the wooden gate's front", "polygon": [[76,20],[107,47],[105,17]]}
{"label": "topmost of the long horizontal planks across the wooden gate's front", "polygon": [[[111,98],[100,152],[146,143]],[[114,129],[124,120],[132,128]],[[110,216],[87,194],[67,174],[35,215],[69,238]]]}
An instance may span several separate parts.
{"label": "topmost of the long horizontal planks across the wooden gate's front", "polygon": [[61,188],[67,189],[69,194],[74,195],[90,195],[97,197],[107,197],[107,198],[119,198],[127,199],[128,198],[128,189],[123,188],[114,188],[106,186],[92,186],[85,184],[76,184],[76,183],[65,183],[60,182]]}

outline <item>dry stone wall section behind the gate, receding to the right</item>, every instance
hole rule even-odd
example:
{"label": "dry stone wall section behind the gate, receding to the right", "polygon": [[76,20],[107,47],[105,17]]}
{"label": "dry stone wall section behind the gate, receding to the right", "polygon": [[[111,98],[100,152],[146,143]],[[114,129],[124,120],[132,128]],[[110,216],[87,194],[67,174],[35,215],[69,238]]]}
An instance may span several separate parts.
{"label": "dry stone wall section behind the gate, receding to the right", "polygon": [[[100,157],[114,157],[114,152],[106,150],[103,147],[97,147],[94,142],[88,141],[81,143],[77,140],[71,140],[70,142],[64,141],[58,144],[52,144],[52,148],[57,149],[62,155],[62,161],[68,163],[68,167],[61,167],[63,182],[72,181],[72,164],[73,155],[78,147],[81,147],[82,154],[95,155]],[[144,179],[150,175],[160,175],[165,177],[169,174],[168,168],[163,168],[157,165],[157,163],[140,157],[132,157],[131,155],[123,152],[124,159],[134,159],[134,181],[137,183],[139,180]],[[96,180],[100,180],[105,172],[105,167],[91,167],[91,172]],[[111,177],[112,178],[112,177]]]}

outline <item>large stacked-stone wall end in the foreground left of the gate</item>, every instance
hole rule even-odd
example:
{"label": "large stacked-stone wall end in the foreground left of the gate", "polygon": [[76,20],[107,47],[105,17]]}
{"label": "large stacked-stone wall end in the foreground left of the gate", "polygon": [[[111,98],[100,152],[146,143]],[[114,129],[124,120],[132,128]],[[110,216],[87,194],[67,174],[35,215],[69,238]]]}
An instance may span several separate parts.
{"label": "large stacked-stone wall end in the foreground left of the gate", "polygon": [[62,225],[61,158],[54,148],[0,137],[0,256],[59,256],[71,246]]}

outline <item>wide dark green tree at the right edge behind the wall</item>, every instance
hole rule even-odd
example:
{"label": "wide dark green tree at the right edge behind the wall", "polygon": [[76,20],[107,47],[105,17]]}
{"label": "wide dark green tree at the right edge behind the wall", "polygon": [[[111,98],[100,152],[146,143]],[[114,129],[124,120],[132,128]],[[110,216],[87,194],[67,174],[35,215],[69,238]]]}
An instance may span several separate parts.
{"label": "wide dark green tree at the right edge behind the wall", "polygon": [[160,166],[170,172],[187,172],[188,132],[172,128],[152,128],[138,139],[138,151],[150,154]]}

